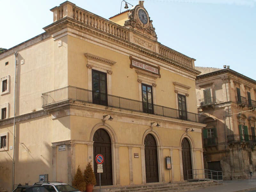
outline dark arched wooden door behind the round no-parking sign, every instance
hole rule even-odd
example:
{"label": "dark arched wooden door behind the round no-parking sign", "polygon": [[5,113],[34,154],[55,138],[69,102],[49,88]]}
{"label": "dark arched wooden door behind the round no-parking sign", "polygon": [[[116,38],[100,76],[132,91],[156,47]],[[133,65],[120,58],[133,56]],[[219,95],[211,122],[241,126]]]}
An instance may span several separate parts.
{"label": "dark arched wooden door behind the round no-parking sign", "polygon": [[[101,154],[104,157],[103,173],[101,176],[101,185],[113,185],[112,180],[112,155],[111,139],[108,132],[104,129],[98,129],[93,135],[93,160],[96,155]],[[97,163],[94,162],[94,173],[96,176],[96,186],[100,185],[99,174],[97,173]]]}

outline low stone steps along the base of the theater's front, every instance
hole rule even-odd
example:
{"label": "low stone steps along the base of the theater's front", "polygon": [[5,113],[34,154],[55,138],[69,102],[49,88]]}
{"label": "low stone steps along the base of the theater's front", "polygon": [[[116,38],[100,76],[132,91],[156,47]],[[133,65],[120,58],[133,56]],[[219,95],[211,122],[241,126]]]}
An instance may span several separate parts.
{"label": "low stone steps along the base of the theater's front", "polygon": [[[221,183],[222,184],[222,183]],[[195,182],[178,182],[178,183],[154,183],[133,186],[103,186],[101,192],[186,192],[191,189],[207,188],[220,185],[213,181],[195,181]],[[100,187],[94,187],[94,192],[99,192]]]}

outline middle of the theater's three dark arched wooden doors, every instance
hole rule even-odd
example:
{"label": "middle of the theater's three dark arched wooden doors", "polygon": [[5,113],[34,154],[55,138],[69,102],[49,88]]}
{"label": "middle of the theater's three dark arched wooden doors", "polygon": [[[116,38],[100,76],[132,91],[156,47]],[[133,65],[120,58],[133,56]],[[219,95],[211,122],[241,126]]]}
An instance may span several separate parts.
{"label": "middle of the theater's three dark arched wooden doors", "polygon": [[156,140],[152,134],[147,134],[144,140],[144,145],[145,145],[146,182],[147,183],[159,182]]}

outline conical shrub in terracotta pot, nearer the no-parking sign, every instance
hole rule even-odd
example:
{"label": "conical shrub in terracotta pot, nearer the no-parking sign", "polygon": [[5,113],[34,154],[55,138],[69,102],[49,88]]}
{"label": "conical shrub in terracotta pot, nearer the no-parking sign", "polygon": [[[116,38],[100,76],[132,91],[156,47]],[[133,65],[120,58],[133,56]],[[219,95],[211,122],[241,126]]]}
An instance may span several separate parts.
{"label": "conical shrub in terracotta pot, nearer the no-parking sign", "polygon": [[92,192],[93,186],[96,184],[96,178],[92,170],[91,161],[88,162],[84,170],[84,181],[86,183],[86,192]]}

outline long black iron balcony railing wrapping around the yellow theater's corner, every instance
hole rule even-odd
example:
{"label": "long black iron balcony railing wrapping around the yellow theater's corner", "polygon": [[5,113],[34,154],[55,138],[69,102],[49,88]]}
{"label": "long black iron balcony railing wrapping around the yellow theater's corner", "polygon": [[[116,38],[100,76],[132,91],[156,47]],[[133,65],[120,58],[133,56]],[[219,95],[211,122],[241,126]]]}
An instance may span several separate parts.
{"label": "long black iron balcony railing wrapping around the yellow theater's corner", "polygon": [[92,92],[79,87],[67,86],[42,94],[42,107],[58,104],[64,101],[79,101],[83,103],[93,103],[112,108],[124,109],[140,113],[150,113],[157,116],[182,119],[192,122],[202,122],[199,114],[179,109],[164,107],[156,104],[149,104],[139,100],[128,99],[115,95]]}

